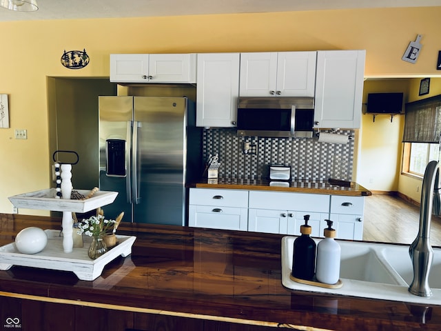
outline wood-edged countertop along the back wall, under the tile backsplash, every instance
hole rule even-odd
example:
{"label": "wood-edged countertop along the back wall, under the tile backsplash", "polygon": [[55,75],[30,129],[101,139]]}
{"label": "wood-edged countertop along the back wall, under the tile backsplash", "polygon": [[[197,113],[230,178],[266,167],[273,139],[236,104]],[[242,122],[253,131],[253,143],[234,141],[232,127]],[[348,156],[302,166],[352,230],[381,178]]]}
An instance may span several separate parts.
{"label": "wood-edged countertop along the back wall, under the tile backsplash", "polygon": [[277,185],[278,183],[276,181],[272,183],[276,183],[276,185],[271,185],[271,181],[266,179],[219,178],[217,180],[212,180],[205,178],[190,184],[189,187],[334,194],[351,197],[365,197],[371,195],[371,191],[354,181],[333,181],[331,179],[326,181],[314,181],[293,179],[287,182],[287,185],[289,185],[287,187]]}

